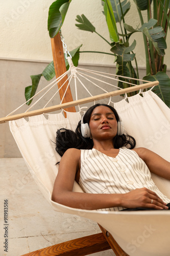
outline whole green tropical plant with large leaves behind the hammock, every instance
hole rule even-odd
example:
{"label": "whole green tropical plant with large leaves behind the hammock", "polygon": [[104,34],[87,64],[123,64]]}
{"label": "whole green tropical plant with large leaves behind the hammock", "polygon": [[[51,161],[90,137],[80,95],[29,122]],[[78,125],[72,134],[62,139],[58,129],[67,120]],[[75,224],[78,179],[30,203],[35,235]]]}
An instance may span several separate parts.
{"label": "whole green tropical plant with large leaves behind the hammock", "polygon": [[[133,40],[130,45],[129,39],[134,33],[142,33],[146,59],[146,76],[143,79],[149,81],[159,80],[159,86],[155,87],[155,92],[170,107],[170,79],[166,74],[166,65],[163,62],[167,30],[168,27],[170,28],[170,0],[133,1],[136,4],[140,18],[140,25],[137,28],[133,28],[125,23],[125,15],[130,9],[130,1],[102,0],[103,13],[106,17],[110,34],[110,42],[96,31],[95,27],[83,14],[81,16],[77,15],[76,26],[78,29],[98,34],[110,45],[111,52],[105,54],[113,55],[114,62],[116,62],[116,74],[126,77],[119,78],[118,87],[122,88],[127,86],[124,83],[125,80],[138,84],[138,81],[133,79],[139,78],[137,60],[134,53],[136,40]],[[62,27],[70,2],[69,0],[57,0],[50,6],[48,14],[48,31],[50,37],[54,37]],[[148,22],[144,23],[142,15],[145,11],[148,13]],[[117,30],[116,23],[120,25],[120,33]],[[82,52],[80,51],[80,47],[70,52],[74,57],[72,60],[75,62],[75,66],[78,65],[79,54]],[[132,65],[132,60],[135,60],[135,68]],[[52,61],[42,74],[31,76],[32,86],[26,88],[26,99],[30,99],[35,94],[41,76],[50,80],[54,75],[54,63]]]}

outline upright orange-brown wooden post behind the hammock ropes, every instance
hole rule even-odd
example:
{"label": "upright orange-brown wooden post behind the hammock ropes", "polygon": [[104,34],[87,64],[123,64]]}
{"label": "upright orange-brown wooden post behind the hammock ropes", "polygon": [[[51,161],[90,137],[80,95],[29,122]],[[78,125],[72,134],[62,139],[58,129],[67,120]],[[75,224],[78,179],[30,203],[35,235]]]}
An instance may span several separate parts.
{"label": "upright orange-brown wooden post behind the hammock ropes", "polygon": [[[62,45],[62,41],[59,33],[54,38],[51,38],[51,44],[52,44],[55,73],[56,73],[56,77],[59,77],[66,72],[63,45]],[[65,76],[60,82],[58,82],[58,88],[60,88],[66,80],[67,80],[67,76]],[[64,84],[64,86],[59,91],[61,99],[65,93],[67,86],[68,86],[68,81]],[[68,87],[62,102],[65,103],[72,100],[73,99],[71,95],[71,90],[70,90],[70,87]],[[76,112],[76,109],[74,106],[65,110],[68,112]]]}

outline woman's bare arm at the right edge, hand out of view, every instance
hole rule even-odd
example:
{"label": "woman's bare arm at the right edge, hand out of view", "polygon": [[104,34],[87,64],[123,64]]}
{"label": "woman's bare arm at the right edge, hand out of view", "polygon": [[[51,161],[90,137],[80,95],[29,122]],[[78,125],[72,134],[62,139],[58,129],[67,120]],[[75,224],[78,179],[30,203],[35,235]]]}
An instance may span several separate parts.
{"label": "woman's bare arm at the right edge, hand out of view", "polygon": [[147,164],[151,173],[170,180],[170,163],[168,161],[144,147],[135,148],[134,151]]}

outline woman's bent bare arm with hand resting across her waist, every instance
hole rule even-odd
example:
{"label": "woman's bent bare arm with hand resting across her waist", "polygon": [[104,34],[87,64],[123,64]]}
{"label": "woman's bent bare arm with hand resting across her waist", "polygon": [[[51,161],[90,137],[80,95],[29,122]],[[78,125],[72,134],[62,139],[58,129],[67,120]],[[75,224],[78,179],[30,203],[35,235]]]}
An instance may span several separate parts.
{"label": "woman's bent bare arm with hand resting across her waist", "polygon": [[[126,194],[88,194],[73,192],[76,172],[80,169],[80,150],[70,148],[67,150],[59,166],[55,180],[52,200],[73,208],[101,209],[111,207],[152,207],[155,209],[167,208],[165,203],[147,188],[135,189]],[[151,204],[151,200],[156,202]]]}

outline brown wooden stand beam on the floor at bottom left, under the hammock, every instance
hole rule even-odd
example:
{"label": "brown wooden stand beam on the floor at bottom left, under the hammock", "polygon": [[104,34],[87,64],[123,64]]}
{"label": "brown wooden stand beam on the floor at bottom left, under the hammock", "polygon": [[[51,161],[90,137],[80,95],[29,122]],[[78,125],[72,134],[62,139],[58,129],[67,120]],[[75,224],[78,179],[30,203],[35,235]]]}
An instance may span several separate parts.
{"label": "brown wooden stand beam on the floor at bottom left, under the hammock", "polygon": [[103,233],[49,246],[21,256],[84,256],[111,249]]}

